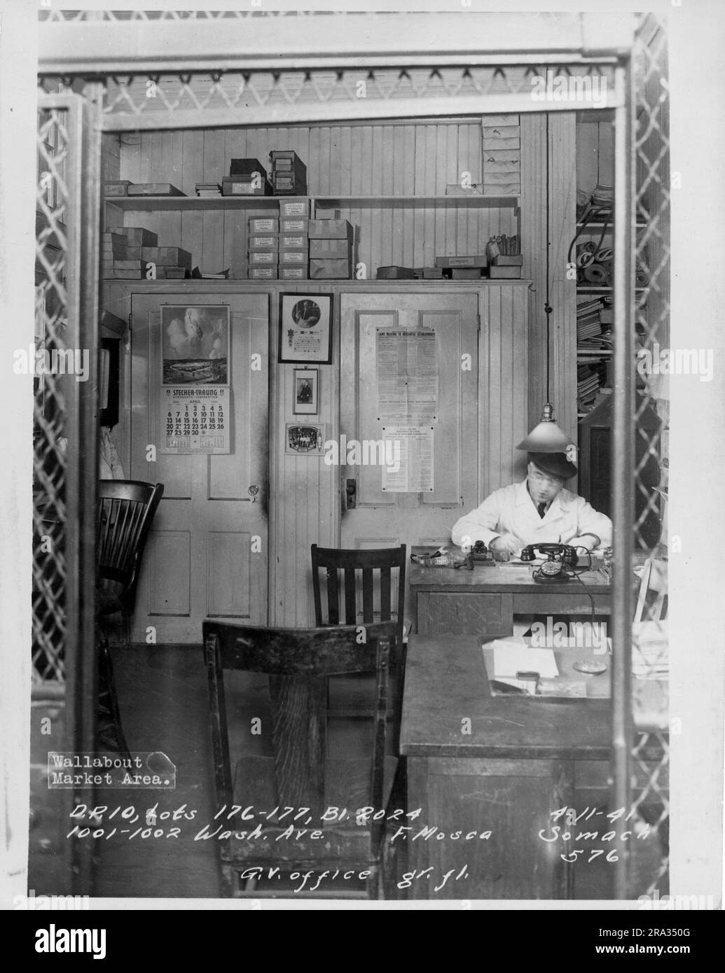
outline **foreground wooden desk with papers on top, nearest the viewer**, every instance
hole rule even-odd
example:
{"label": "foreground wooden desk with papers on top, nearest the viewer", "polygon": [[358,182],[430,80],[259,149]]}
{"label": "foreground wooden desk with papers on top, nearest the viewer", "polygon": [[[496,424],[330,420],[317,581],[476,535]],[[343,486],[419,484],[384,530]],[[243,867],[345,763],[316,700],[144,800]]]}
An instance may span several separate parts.
{"label": "foreground wooden desk with papers on top, nearest the viewer", "polygon": [[[408,810],[421,813],[405,822],[414,830],[404,845],[410,872],[433,871],[413,881],[409,896],[570,897],[572,868],[561,858],[569,848],[543,841],[539,830],[550,835],[550,812],[575,806],[578,764],[591,770],[597,761],[605,783],[609,739],[608,700],[491,697],[478,638],[412,635],[401,753],[408,758]],[[445,837],[412,840],[426,825]],[[601,834],[608,827],[602,815],[583,829]],[[487,831],[489,839],[478,837]],[[456,832],[460,838],[451,838]],[[466,841],[471,833],[476,837]],[[455,881],[464,865],[466,874]]]}

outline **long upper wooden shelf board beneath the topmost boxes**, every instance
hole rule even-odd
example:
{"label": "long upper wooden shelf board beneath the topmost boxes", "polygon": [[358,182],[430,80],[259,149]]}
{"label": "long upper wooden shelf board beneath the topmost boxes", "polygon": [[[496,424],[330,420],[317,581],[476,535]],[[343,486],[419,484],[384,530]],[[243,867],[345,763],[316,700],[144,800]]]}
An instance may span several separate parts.
{"label": "long upper wooden shelf board beneath the topmost boxes", "polygon": [[168,209],[270,209],[280,202],[309,199],[319,209],[370,207],[447,206],[482,209],[517,207],[518,196],[107,196],[107,204],[124,210]]}

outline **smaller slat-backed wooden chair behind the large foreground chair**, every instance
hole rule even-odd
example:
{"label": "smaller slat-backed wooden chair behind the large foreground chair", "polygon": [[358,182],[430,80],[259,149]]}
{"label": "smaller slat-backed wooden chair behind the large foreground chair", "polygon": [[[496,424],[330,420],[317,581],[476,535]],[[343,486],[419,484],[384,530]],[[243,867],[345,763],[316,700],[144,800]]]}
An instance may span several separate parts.
{"label": "smaller slat-backed wooden chair behind the large foreground chair", "polygon": [[[312,544],[311,557],[315,625],[368,626],[395,618],[397,652],[391,669],[394,700],[391,717],[397,752],[405,675],[405,635],[410,631],[410,623],[406,622],[403,611],[406,546],[401,544],[399,548],[358,550],[318,548]],[[398,572],[397,581],[393,574],[395,569]],[[323,581],[320,580],[321,574]],[[397,603],[394,601],[396,593]],[[359,711],[359,704],[357,709],[345,710],[351,716]],[[367,712],[367,709],[363,706],[362,711]]]}

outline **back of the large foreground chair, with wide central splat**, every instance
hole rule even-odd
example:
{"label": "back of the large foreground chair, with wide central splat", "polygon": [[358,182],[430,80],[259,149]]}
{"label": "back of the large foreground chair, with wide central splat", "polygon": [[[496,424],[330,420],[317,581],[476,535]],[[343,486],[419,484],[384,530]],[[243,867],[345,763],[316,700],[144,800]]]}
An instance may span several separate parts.
{"label": "back of the large foreground chair, with wide central splat", "polygon": [[[259,629],[206,621],[204,659],[208,677],[217,799],[231,806],[232,765],[229,748],[224,669],[269,676],[272,753],[280,805],[325,809],[327,757],[327,680],[353,672],[374,673],[376,705],[370,751],[370,807],[383,805],[383,770],[388,707],[388,671],[395,644],[393,623],[337,629]],[[252,795],[250,795],[250,803]]]}

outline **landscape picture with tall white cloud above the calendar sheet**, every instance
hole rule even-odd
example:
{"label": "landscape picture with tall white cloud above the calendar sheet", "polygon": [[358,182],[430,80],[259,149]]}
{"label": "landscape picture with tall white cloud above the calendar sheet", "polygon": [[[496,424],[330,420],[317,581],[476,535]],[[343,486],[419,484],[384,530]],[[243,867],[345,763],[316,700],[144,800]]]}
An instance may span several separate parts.
{"label": "landscape picture with tall white cloud above the calendar sheet", "polygon": [[229,305],[162,306],[162,384],[229,385]]}

